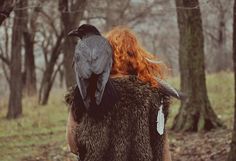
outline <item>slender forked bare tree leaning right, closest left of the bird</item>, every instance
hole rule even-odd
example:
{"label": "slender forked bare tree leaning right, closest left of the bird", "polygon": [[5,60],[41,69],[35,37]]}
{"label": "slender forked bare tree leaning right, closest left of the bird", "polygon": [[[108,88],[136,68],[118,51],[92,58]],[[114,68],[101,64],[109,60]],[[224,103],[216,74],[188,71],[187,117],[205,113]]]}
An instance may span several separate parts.
{"label": "slender forked bare tree leaning right, closest left of the bird", "polygon": [[61,54],[61,44],[63,43],[64,34],[63,31],[57,29],[56,24],[58,21],[55,21],[53,17],[44,11],[41,11],[41,15],[47,27],[40,31],[43,37],[41,48],[43,50],[45,69],[42,70],[43,76],[39,88],[38,101],[39,104],[46,105],[56,75],[61,69],[62,63],[58,64],[58,59]]}

